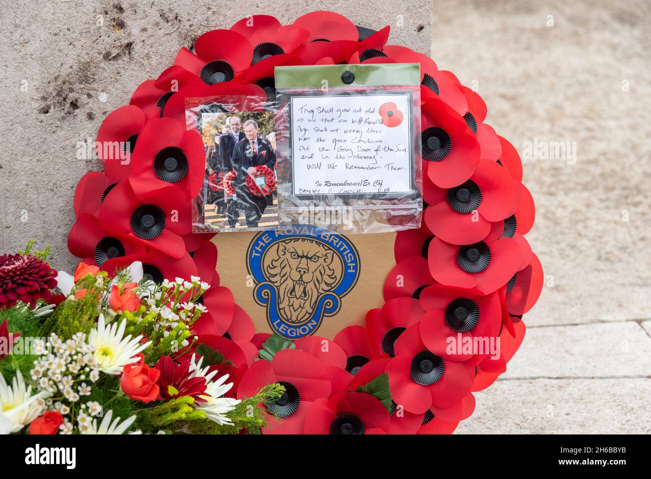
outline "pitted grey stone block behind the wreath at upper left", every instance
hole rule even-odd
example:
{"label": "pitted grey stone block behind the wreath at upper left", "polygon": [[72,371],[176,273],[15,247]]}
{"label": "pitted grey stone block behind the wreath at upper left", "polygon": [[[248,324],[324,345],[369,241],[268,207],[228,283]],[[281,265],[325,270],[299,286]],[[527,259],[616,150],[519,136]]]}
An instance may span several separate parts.
{"label": "pitted grey stone block behind the wreath at upper left", "polygon": [[0,251],[38,238],[51,243],[55,266],[72,269],[66,238],[74,188],[85,172],[102,167],[77,159],[77,143],[94,139],[108,113],[126,105],[141,82],[157,77],[200,34],[249,14],[290,23],[324,8],[368,28],[391,25],[391,43],[429,53],[431,0],[3,1]]}

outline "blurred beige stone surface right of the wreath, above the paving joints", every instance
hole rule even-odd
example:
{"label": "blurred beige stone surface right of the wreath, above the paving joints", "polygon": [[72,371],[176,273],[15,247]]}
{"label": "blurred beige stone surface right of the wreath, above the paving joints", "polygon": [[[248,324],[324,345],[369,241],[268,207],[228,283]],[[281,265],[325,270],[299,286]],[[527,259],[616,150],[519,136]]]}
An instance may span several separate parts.
{"label": "blurred beige stone surface right of the wreath, above the paving joints", "polygon": [[435,3],[433,57],[477,81],[497,133],[521,153],[535,139],[576,145],[574,165],[525,163],[527,238],[553,280],[527,325],[650,316],[650,51],[648,1]]}

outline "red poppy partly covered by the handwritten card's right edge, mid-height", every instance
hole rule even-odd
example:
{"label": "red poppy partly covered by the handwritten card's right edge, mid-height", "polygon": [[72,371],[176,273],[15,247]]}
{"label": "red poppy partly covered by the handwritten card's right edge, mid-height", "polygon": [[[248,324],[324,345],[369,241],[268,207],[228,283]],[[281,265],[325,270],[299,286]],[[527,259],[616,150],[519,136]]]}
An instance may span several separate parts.
{"label": "red poppy partly covered by the handwritten card's right edge, mid-height", "polygon": [[468,180],[477,169],[480,147],[464,118],[434,97],[422,106],[421,128],[428,178],[440,188]]}

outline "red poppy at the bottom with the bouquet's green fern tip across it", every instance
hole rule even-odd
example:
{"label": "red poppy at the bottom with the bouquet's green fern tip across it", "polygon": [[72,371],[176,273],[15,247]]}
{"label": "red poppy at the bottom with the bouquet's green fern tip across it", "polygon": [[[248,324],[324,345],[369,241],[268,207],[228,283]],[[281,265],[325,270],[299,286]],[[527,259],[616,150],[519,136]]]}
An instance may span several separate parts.
{"label": "red poppy at the bottom with the bouquet's green fern tip across it", "polygon": [[299,349],[283,349],[271,363],[265,360],[253,363],[240,381],[238,399],[251,397],[273,383],[283,385],[285,392],[265,405],[282,421],[271,420],[263,429],[265,434],[300,434],[312,402],[327,398],[332,388],[326,366],[318,359]]}

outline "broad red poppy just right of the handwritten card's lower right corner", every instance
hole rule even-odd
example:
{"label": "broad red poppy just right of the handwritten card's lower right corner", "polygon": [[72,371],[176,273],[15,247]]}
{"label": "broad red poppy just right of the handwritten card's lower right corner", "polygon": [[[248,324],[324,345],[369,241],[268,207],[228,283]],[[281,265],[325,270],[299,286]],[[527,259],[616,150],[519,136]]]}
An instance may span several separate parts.
{"label": "broad red poppy just right of the handwritten card's lower right corner", "polygon": [[425,209],[425,223],[434,235],[454,245],[482,241],[492,228],[491,222],[505,220],[517,205],[513,180],[490,159],[480,160],[469,180],[439,189],[430,199],[433,202]]}

